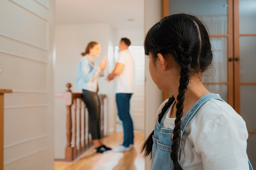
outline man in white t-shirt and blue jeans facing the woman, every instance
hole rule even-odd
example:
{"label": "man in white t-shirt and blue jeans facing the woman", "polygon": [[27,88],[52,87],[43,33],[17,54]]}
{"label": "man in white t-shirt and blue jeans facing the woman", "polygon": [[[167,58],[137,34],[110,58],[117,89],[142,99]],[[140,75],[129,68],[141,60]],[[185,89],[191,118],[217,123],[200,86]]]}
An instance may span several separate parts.
{"label": "man in white t-shirt and blue jeans facing the woman", "polygon": [[130,99],[133,93],[134,85],[134,60],[128,50],[131,42],[127,38],[122,38],[119,43],[119,58],[107,81],[116,80],[115,93],[118,116],[123,122],[124,142],[115,152],[128,151],[133,146],[133,122],[130,115]]}

